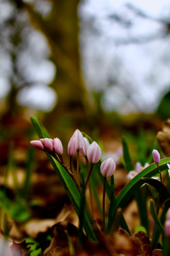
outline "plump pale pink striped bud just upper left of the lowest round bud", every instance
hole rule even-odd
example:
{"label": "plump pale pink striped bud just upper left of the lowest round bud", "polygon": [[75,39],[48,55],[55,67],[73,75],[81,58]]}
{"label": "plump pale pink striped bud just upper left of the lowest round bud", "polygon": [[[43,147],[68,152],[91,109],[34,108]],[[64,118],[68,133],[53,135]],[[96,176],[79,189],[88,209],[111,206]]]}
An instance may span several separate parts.
{"label": "plump pale pink striped bud just upper left of the lowest round bud", "polygon": [[101,153],[101,148],[96,141],[94,141],[87,148],[87,159],[91,163],[97,163],[100,160]]}

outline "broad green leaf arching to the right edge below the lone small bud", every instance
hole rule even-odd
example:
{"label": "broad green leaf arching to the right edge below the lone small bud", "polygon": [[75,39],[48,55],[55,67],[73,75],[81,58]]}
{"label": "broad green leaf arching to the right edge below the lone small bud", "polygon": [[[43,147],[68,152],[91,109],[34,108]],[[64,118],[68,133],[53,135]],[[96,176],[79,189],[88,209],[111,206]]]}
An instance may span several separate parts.
{"label": "broad green leaf arching to the right edge below the lone small bud", "polygon": [[[170,161],[169,158],[165,158],[160,160],[159,168],[160,171],[167,170],[167,163]],[[114,221],[114,214],[117,210],[117,208],[124,209],[125,205],[128,203],[129,199],[134,194],[135,190],[139,188],[141,185],[143,185],[145,182],[141,180],[142,177],[153,177],[159,173],[159,170],[155,163],[152,163],[150,166],[142,170],[140,173],[138,173],[130,182],[128,182],[125,187],[121,190],[120,194],[118,195],[114,209],[113,209],[113,216],[112,221]]]}

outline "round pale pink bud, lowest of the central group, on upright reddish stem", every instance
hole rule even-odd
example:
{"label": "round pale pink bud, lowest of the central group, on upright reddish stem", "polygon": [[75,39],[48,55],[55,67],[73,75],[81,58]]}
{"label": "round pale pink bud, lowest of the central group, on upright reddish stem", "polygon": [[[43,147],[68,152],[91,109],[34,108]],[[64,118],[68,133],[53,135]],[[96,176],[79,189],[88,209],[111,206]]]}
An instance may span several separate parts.
{"label": "round pale pink bud, lowest of the central group, on upright reddish stem", "polygon": [[103,161],[100,166],[100,172],[104,177],[112,176],[115,169],[116,169],[116,163],[111,157]]}

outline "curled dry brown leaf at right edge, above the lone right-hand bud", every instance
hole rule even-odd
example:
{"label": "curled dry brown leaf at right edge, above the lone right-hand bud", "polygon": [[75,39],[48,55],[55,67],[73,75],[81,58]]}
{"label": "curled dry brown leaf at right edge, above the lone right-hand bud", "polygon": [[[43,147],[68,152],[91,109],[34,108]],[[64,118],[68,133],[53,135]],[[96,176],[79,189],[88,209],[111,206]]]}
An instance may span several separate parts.
{"label": "curled dry brown leaf at right edge, above the lone right-hand bud", "polygon": [[170,119],[163,124],[163,131],[157,133],[157,140],[164,154],[170,157]]}

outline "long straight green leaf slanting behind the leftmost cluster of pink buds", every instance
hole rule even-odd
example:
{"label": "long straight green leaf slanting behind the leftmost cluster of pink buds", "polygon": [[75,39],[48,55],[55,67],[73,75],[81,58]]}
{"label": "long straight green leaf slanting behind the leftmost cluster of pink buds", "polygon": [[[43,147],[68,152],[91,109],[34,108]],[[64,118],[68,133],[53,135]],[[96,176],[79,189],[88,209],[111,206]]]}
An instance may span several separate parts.
{"label": "long straight green leaf slanting behind the leftmost cluster of pink buds", "polygon": [[[48,132],[46,131],[46,129],[44,128],[43,125],[41,125],[36,117],[31,117],[31,122],[38,134],[39,138],[50,138]],[[69,176],[69,174],[66,172],[66,170],[60,165],[60,163],[58,163],[56,161],[56,159],[54,159],[51,155],[46,154],[47,157],[49,158],[54,170],[56,171],[73,207],[74,210],[77,214],[79,214],[80,211],[80,202],[81,202],[81,197],[80,197],[80,193],[77,189],[77,187],[75,186],[73,180],[71,179],[71,177]],[[87,209],[86,209],[87,211]],[[93,240],[96,240],[96,236],[95,233],[93,231],[93,228],[91,225],[95,225],[94,221],[89,219],[89,214],[87,216],[87,212],[85,211],[85,218],[84,218],[84,229],[85,232],[87,234],[87,236]]]}

